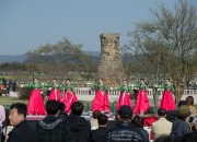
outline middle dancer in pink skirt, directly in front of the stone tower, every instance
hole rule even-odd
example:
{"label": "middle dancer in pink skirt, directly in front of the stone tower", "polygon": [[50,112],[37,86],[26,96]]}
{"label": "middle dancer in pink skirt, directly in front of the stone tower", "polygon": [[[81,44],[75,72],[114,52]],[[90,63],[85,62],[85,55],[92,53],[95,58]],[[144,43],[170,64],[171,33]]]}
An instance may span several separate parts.
{"label": "middle dancer in pink skirt, directly in front of the stone tower", "polygon": [[99,83],[94,83],[92,87],[96,91],[92,102],[92,111],[109,113],[107,86],[103,83],[103,79],[100,79]]}

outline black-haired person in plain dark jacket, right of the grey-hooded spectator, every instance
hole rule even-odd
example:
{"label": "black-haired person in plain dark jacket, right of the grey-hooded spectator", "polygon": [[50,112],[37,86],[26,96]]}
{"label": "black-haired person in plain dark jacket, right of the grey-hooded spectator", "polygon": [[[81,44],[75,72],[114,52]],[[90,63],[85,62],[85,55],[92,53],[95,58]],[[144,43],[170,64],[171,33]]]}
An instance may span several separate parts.
{"label": "black-haired person in plain dark jacket, right of the grey-hooded spectator", "polygon": [[71,114],[68,117],[68,125],[76,142],[90,141],[91,125],[90,121],[86,121],[83,117],[81,117],[83,108],[84,106],[81,102],[74,102],[71,105]]}

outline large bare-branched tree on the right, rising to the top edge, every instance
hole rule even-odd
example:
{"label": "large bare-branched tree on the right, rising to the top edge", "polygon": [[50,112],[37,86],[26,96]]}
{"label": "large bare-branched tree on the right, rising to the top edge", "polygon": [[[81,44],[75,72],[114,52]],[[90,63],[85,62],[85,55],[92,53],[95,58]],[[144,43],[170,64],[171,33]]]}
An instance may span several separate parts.
{"label": "large bare-branched tree on the right, rising to the top edge", "polygon": [[177,104],[189,70],[195,66],[192,62],[197,51],[196,8],[179,0],[173,10],[159,4],[151,12],[152,20],[138,23],[129,33],[130,49],[142,63],[149,64],[147,72],[153,74],[157,82],[162,76],[172,78]]}

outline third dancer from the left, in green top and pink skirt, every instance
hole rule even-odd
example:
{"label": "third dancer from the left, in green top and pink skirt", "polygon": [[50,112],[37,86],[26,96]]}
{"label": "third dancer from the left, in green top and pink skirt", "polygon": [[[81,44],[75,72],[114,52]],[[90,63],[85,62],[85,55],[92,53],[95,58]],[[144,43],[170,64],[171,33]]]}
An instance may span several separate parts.
{"label": "third dancer from the left, in green top and pink skirt", "polygon": [[65,88],[65,94],[61,98],[61,102],[66,106],[67,114],[70,114],[70,107],[71,105],[78,100],[74,86],[71,85],[70,79],[66,80],[66,85],[62,86]]}

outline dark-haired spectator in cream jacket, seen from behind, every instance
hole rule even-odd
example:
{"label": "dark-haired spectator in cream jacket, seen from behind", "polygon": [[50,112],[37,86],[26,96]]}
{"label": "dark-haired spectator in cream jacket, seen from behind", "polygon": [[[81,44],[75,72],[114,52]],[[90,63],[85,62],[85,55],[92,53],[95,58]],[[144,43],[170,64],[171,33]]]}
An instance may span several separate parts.
{"label": "dark-haired spectator in cream jacket, seen from behind", "polygon": [[167,121],[166,110],[163,108],[158,109],[159,120],[152,123],[151,133],[154,135],[154,140],[161,135],[170,135],[172,130],[172,122]]}

